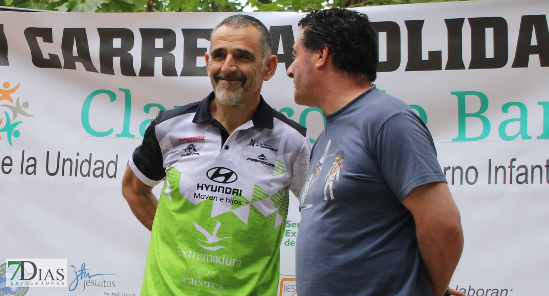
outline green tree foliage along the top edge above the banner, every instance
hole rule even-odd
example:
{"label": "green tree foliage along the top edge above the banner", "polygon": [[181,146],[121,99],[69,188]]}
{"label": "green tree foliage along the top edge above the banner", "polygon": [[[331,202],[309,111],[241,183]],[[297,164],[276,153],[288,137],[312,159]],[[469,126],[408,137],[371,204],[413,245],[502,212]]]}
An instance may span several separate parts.
{"label": "green tree foliage along the top edge above the banner", "polygon": [[69,12],[309,11],[325,7],[468,0],[0,0],[0,6]]}

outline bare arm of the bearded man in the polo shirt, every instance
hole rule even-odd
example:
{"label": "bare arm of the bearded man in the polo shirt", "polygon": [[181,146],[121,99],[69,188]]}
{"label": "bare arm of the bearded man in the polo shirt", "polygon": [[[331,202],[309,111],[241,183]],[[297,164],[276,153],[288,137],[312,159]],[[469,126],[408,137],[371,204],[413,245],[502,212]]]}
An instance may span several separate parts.
{"label": "bare arm of the bearded man in the polo shirt", "polygon": [[153,228],[154,213],[158,205],[158,199],[152,190],[153,187],[137,178],[130,165],[126,166],[126,173],[122,178],[122,195],[130,205],[133,214],[148,230]]}

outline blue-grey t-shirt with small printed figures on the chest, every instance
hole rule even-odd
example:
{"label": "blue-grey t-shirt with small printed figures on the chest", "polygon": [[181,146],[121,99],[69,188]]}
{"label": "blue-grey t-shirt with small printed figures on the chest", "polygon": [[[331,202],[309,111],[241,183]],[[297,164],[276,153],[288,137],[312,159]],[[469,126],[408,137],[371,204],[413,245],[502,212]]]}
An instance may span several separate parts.
{"label": "blue-grey t-shirt with small printed figures on the chest", "polygon": [[410,190],[446,182],[427,126],[375,86],[326,117],[301,191],[299,296],[433,295]]}

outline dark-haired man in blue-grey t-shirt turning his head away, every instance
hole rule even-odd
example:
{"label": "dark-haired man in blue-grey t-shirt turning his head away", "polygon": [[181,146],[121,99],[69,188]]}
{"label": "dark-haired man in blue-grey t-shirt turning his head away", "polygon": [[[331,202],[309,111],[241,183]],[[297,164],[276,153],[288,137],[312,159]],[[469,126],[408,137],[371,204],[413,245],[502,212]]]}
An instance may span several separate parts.
{"label": "dark-haired man in blue-grey t-shirt turning his head away", "polygon": [[326,129],[300,196],[298,295],[444,295],[463,248],[460,213],[427,126],[372,85],[377,33],[345,9],[314,10],[299,26],[287,74]]}

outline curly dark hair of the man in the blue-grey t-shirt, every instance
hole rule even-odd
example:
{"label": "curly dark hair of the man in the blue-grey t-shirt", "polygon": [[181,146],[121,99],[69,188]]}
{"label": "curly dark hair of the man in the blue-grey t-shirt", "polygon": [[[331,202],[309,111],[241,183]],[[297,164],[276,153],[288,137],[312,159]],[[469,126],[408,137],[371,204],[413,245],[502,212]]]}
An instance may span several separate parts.
{"label": "curly dark hair of the man in the blue-grey t-shirt", "polygon": [[315,9],[298,26],[303,29],[301,45],[305,50],[327,46],[336,69],[371,82],[376,80],[378,33],[366,14],[341,8]]}

